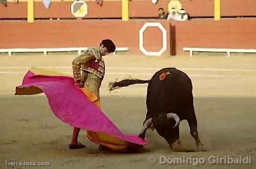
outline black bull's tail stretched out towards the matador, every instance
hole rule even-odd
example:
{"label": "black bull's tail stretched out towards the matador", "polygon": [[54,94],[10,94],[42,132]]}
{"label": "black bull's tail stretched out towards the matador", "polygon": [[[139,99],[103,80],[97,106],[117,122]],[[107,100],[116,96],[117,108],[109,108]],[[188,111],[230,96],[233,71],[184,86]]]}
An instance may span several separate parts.
{"label": "black bull's tail stretched out towards the matador", "polygon": [[109,83],[109,91],[113,91],[114,89],[119,89],[121,87],[126,87],[133,84],[148,84],[149,80],[140,80],[137,78],[126,78],[119,82],[110,82]]}

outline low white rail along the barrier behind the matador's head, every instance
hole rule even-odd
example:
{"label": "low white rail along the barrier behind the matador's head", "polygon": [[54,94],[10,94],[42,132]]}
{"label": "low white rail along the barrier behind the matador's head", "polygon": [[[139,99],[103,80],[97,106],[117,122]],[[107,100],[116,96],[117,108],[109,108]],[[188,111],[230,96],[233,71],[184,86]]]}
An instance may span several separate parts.
{"label": "low white rail along the barrier behind the matador's head", "polygon": [[[85,51],[88,47],[61,47],[61,48],[16,48],[16,49],[0,49],[0,53],[8,53],[11,56],[11,53],[44,53],[46,55],[48,52],[69,52],[77,51],[78,54],[81,54],[82,51]],[[114,55],[117,51],[128,51],[128,47],[116,47]]]}

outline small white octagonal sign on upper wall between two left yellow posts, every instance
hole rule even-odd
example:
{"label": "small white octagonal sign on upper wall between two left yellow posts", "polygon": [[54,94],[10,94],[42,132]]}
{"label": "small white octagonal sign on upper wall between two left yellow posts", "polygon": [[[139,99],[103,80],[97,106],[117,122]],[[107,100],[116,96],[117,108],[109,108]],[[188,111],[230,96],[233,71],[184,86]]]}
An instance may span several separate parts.
{"label": "small white octagonal sign on upper wall between two left yellow posts", "polygon": [[74,3],[71,4],[71,13],[75,17],[84,17],[87,12],[87,4],[84,1],[74,1]]}

